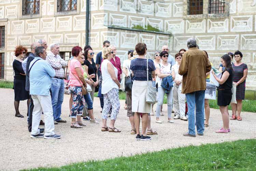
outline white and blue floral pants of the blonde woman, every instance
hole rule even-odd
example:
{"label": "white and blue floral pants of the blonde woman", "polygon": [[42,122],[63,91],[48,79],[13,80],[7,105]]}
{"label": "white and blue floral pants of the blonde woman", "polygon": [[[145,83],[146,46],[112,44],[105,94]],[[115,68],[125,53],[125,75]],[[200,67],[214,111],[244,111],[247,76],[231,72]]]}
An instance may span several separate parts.
{"label": "white and blue floral pants of the blonde woman", "polygon": [[102,110],[102,119],[107,119],[112,106],[111,120],[116,120],[116,116],[119,113],[120,101],[119,92],[117,88],[112,88],[109,92],[104,94],[104,107]]}

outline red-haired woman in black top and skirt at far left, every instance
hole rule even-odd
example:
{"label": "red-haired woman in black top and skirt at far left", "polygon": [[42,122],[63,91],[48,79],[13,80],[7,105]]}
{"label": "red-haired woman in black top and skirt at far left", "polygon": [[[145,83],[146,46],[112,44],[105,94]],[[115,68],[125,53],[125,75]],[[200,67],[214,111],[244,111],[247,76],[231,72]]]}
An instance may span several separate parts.
{"label": "red-haired woman in black top and skirt at far left", "polygon": [[[13,89],[14,89],[14,107],[15,107],[15,116],[16,117],[24,117],[19,113],[19,101],[27,100],[27,106],[29,109],[29,92],[25,90],[26,86],[26,74],[22,68],[22,61],[25,58],[28,50],[24,46],[16,46],[15,48],[15,56],[16,58],[13,61],[13,71],[14,71],[14,81],[13,81]],[[28,116],[28,112],[27,112]]]}

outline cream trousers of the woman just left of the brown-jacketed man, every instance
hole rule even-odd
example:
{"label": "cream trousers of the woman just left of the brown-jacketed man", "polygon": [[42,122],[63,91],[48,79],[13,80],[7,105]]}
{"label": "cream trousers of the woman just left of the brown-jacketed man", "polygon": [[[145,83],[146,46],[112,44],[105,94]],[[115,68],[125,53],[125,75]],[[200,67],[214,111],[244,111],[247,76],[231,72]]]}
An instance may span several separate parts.
{"label": "cream trousers of the woman just left of the brown-jacketed man", "polygon": [[173,108],[176,116],[185,116],[186,111],[186,95],[181,93],[179,86],[173,88]]}

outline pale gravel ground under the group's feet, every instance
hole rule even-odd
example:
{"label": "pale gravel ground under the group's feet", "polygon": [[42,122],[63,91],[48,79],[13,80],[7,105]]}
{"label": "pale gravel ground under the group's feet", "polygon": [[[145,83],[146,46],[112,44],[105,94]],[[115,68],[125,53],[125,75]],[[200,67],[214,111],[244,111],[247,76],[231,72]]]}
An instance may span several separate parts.
{"label": "pale gravel ground under the group's feet", "polygon": [[[0,121],[0,131],[2,132],[0,170],[62,166],[72,162],[130,156],[190,144],[200,145],[256,138],[255,113],[243,112],[242,122],[230,121],[231,133],[217,134],[215,130],[222,126],[222,117],[219,110],[215,109],[211,109],[210,127],[205,129],[204,136],[184,137],[182,133],[187,131],[187,122],[175,120],[173,124],[167,123],[167,106],[164,105],[165,116],[161,116],[161,120],[164,122],[157,124],[155,116],[152,117],[152,128],[158,132],[158,135],[152,136],[151,141],[136,141],[135,136],[130,134],[131,128],[126,110],[124,110],[124,100],[121,101],[115,125],[122,132],[101,132],[101,122],[99,125],[95,125],[85,121],[86,127],[71,129],[68,117],[69,95],[65,95],[62,104],[62,118],[68,122],[55,125],[55,132],[61,134],[62,138],[58,140],[31,139],[27,129],[26,102],[21,101],[19,107],[20,113],[25,117],[14,117],[13,90],[0,89],[0,91],[0,99],[2,99],[0,103],[0,115],[2,116]],[[94,99],[94,113],[96,118],[101,118],[99,98]]]}

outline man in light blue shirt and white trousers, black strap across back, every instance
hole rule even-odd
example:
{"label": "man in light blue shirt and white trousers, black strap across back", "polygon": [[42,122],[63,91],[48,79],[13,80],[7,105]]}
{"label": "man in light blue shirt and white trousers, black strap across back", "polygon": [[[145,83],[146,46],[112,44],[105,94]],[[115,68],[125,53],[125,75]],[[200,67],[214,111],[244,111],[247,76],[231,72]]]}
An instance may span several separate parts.
{"label": "man in light blue shirt and white trousers, black strap across back", "polygon": [[[55,134],[52,98],[50,88],[52,86],[52,77],[55,71],[49,65],[46,59],[46,50],[44,47],[35,49],[36,57],[29,65],[30,95],[34,102],[31,138],[44,137],[45,139],[59,139],[61,136]],[[44,112],[45,135],[38,131],[41,113]]]}

